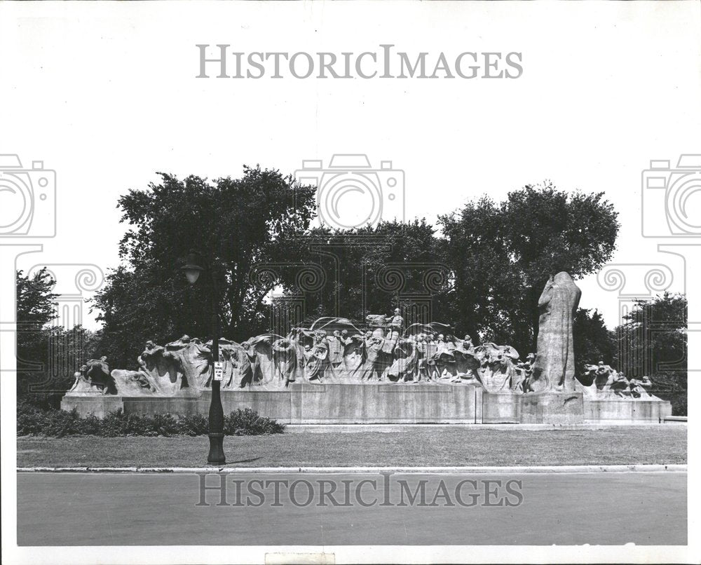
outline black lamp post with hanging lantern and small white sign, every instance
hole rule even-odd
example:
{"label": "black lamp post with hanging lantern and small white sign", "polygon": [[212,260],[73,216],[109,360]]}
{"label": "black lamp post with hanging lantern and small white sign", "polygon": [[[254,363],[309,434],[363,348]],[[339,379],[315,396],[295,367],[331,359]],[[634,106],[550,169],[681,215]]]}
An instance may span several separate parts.
{"label": "black lamp post with hanging lantern and small white sign", "polygon": [[208,465],[226,463],[224,456],[224,408],[222,407],[222,383],[215,379],[215,364],[219,362],[219,314],[217,313],[217,292],[215,277],[211,268],[205,268],[200,254],[191,251],[180,267],[185,273],[187,282],[194,285],[200,273],[207,271],[210,282],[210,297],[212,308],[212,400],[210,402],[210,454],[207,456]]}

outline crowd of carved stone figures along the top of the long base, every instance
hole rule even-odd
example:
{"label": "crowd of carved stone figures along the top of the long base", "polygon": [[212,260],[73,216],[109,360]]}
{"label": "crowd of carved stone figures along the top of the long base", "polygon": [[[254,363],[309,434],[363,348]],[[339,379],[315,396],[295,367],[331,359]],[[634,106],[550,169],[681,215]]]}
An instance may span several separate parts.
{"label": "crowd of carved stone figures along the top of the long base", "polygon": [[[508,345],[475,346],[448,325],[433,322],[405,327],[393,315],[367,316],[365,329],[345,318],[320,318],[311,327],[294,327],[287,336],[263,334],[242,343],[219,339],[222,390],[275,390],[290,383],[473,384],[490,393],[533,390],[536,355],[519,359]],[[198,395],[210,388],[212,342],[182,336],[165,346],[147,341],[139,369],[114,369],[106,358],[90,360],[76,373],[72,395]],[[651,381],[627,379],[608,365],[587,365],[576,383],[587,397],[652,396]]]}

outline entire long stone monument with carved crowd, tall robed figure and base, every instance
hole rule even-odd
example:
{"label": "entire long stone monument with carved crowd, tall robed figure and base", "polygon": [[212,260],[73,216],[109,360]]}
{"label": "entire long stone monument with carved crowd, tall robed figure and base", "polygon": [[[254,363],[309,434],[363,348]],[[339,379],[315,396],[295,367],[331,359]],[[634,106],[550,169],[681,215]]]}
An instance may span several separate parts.
{"label": "entire long stone monument with carved crowd, tall robed figure and base", "polygon": [[[671,414],[669,402],[649,392],[647,376],[627,379],[604,362],[576,376],[573,315],[580,296],[567,273],[550,277],[538,301],[537,353],[524,361],[512,346],[475,344],[469,335],[458,339],[447,324],[407,327],[399,308],[390,316],[369,314],[363,324],[319,318],[287,336],[261,334],[240,343],[222,337],[223,399],[231,399],[231,407],[250,405],[300,423],[327,417],[339,423],[344,417],[346,423],[384,421],[378,414],[397,422],[581,423],[585,402],[588,420],[655,421],[658,414]],[[88,360],[62,407],[102,414],[120,407],[205,410],[211,346],[187,335],[165,346],[147,341],[135,371],[110,371],[104,357]],[[397,395],[384,392],[386,386]],[[484,409],[477,408],[480,403]]]}

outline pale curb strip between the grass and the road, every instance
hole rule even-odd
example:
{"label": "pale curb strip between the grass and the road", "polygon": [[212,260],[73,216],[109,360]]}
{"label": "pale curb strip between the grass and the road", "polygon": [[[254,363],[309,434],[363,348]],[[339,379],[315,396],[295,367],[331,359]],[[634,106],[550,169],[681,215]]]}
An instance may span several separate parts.
{"label": "pale curb strip between the grass and the road", "polygon": [[670,465],[540,465],[526,467],[18,467],[17,472],[83,473],[198,473],[226,472],[236,475],[283,475],[296,473],[355,474],[506,474],[592,473],[592,472],[687,472],[686,464]]}

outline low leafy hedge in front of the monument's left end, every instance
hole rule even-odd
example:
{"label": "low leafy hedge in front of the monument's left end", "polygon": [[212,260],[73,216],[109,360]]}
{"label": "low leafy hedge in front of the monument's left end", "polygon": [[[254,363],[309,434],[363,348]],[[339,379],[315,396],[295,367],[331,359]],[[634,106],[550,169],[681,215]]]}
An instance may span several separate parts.
{"label": "low leafy hedge in front of the monument's left end", "polygon": [[[236,410],[224,416],[226,435],[265,435],[283,433],[285,425],[271,418],[259,416],[251,409]],[[41,409],[22,402],[17,409],[17,435],[42,435],[64,437],[67,435],[100,435],[116,437],[127,435],[205,435],[208,431],[207,417],[172,416],[154,414],[139,416],[124,414],[121,410],[110,412],[104,418],[81,417],[76,410],[70,412]]]}

